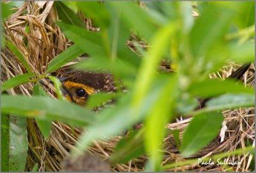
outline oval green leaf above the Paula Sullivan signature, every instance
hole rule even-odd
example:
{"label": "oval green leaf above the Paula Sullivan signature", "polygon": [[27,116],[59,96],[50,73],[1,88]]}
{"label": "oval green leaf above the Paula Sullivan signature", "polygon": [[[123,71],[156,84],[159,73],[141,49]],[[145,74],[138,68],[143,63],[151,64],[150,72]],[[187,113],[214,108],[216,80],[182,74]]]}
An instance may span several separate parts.
{"label": "oval green leaf above the Paula Sullivan signature", "polygon": [[184,132],[181,144],[182,155],[191,156],[207,146],[218,134],[223,119],[223,115],[218,112],[196,115]]}

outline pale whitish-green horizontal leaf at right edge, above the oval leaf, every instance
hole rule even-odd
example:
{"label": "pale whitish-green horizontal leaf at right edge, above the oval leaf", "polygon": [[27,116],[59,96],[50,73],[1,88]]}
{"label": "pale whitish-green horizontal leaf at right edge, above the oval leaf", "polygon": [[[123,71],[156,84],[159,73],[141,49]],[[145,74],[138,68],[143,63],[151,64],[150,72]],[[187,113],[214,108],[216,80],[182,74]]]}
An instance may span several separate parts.
{"label": "pale whitish-green horizontal leaf at right edge, above the oval leaf", "polygon": [[254,93],[224,94],[206,102],[205,109],[221,110],[238,107],[253,107],[254,102]]}

